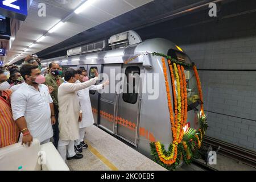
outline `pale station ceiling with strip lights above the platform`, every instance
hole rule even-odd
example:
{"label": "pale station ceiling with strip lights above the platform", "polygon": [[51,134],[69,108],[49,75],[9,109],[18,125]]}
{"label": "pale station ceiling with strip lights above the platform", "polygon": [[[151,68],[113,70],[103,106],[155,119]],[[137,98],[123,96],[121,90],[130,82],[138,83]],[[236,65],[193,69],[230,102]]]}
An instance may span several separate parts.
{"label": "pale station ceiling with strip lights above the platform", "polygon": [[[98,24],[102,24],[119,15],[137,9],[151,1],[152,0],[89,0],[86,8],[79,14],[74,13],[74,11],[86,2],[84,0],[31,1],[27,18],[20,24],[18,33],[12,41],[10,50],[7,51],[5,60],[11,60],[11,63],[15,63],[26,57],[26,55],[54,46],[80,32],[84,32]],[[43,7],[42,3],[46,5],[46,16],[38,15],[38,12]],[[63,20],[64,23],[60,28],[51,34],[48,33],[52,27]],[[42,35],[47,36],[45,36],[42,41],[36,42]],[[7,46],[6,41],[5,46]]]}

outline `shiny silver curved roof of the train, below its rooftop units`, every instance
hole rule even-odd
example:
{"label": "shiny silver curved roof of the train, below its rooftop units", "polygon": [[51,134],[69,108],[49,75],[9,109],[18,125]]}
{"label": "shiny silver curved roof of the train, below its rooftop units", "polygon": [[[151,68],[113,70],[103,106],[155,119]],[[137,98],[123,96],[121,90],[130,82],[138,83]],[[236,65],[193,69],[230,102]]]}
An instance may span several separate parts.
{"label": "shiny silver curved roof of the train, below its rooftop units", "polygon": [[[43,67],[47,67],[49,63],[55,61],[61,66],[65,65],[83,65],[83,64],[116,64],[116,63],[125,63],[127,60],[133,59],[129,64],[133,63],[142,63],[143,62],[143,53],[166,53],[169,49],[175,49],[180,51],[174,43],[170,40],[162,38],[154,38],[144,40],[141,43],[127,46],[125,48],[118,48],[109,51],[101,51],[95,53],[86,53],[82,55],[74,56],[61,56],[54,57],[52,59],[42,60]],[[138,56],[138,57],[137,57]]]}

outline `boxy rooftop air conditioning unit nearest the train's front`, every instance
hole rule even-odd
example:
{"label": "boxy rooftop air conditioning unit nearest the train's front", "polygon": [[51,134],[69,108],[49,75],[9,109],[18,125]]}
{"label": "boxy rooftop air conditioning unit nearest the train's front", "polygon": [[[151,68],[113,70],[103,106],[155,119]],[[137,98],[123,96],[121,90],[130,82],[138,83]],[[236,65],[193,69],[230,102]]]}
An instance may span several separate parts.
{"label": "boxy rooftop air conditioning unit nearest the train's front", "polygon": [[109,46],[112,49],[123,48],[141,42],[141,37],[133,30],[122,32],[109,38]]}

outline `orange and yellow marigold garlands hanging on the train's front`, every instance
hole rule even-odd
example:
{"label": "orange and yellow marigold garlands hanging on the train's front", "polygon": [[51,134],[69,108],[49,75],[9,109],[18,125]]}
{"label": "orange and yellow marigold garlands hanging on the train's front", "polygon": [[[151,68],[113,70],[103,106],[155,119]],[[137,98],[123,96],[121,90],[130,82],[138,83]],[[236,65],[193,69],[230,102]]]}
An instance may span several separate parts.
{"label": "orange and yellow marigold garlands hanging on the train's front", "polygon": [[[163,65],[163,73],[164,73],[164,80],[166,84],[166,92],[167,92],[167,99],[168,99],[168,109],[170,111],[170,122],[171,122],[171,130],[172,130],[172,137],[173,137],[173,142],[172,142],[172,148],[171,151],[166,151],[164,150],[164,146],[160,142],[152,142],[151,147],[154,152],[154,155],[157,155],[158,158],[155,160],[159,163],[166,164],[168,167],[171,167],[172,164],[176,162],[177,159],[177,154],[179,154],[179,160],[184,159],[183,155],[186,156],[185,163],[189,163],[192,158],[191,151],[188,147],[188,144],[191,144],[191,141],[185,142],[183,140],[183,127],[185,126],[187,122],[187,83],[185,80],[185,73],[184,73],[184,68],[183,66],[179,64],[172,63],[171,60],[168,60],[168,67],[170,69],[170,76],[171,76],[171,85],[172,85],[172,94],[173,94],[173,100],[171,99],[171,93],[170,93],[170,86],[168,82],[168,75],[167,75],[167,67],[166,67],[166,59],[164,57],[162,58],[162,65]],[[201,85],[200,85],[200,79],[199,75],[197,73],[196,67],[193,67],[195,71],[195,76],[197,80],[197,86],[199,87],[199,95],[200,98],[203,100],[203,94],[201,92]],[[175,80],[176,80],[176,88],[175,88]],[[176,90],[177,89],[177,90]],[[177,96],[176,96],[177,94]],[[174,110],[172,109],[172,102],[174,102]],[[203,111],[203,106],[201,105],[201,111]],[[174,115],[175,112],[175,115]],[[175,118],[174,118],[175,117]],[[204,135],[204,130],[200,130],[201,135],[199,137],[198,134],[195,135],[196,137],[196,143],[197,147],[201,147],[201,142],[203,139]],[[192,141],[193,142],[193,141]],[[178,153],[178,145],[182,144],[185,154],[182,153],[179,148],[179,153]],[[152,146],[154,145],[154,146]],[[180,152],[182,153],[180,155]],[[168,155],[165,155],[168,154]],[[159,161],[160,160],[160,161]],[[179,162],[177,160],[177,162]],[[162,165],[161,163],[161,165]]]}

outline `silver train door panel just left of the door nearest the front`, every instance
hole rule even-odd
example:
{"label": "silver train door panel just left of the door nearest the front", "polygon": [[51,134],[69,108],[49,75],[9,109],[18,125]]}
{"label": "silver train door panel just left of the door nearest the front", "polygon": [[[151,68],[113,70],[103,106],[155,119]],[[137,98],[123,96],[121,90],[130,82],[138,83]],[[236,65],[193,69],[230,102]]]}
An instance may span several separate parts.
{"label": "silver train door panel just left of the door nearest the front", "polygon": [[[110,85],[105,86],[105,89],[108,90],[108,93],[102,93],[100,96],[100,122],[98,126],[108,131],[109,133],[114,134],[114,115],[118,100],[116,97],[116,90],[111,88],[112,86],[115,87],[119,81],[115,80],[115,77],[113,76],[117,75],[117,73],[121,73],[121,64],[104,65],[103,73],[108,75]],[[115,82],[113,83],[114,80]]]}

